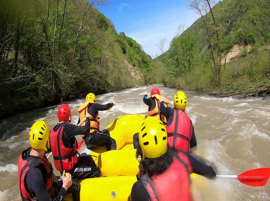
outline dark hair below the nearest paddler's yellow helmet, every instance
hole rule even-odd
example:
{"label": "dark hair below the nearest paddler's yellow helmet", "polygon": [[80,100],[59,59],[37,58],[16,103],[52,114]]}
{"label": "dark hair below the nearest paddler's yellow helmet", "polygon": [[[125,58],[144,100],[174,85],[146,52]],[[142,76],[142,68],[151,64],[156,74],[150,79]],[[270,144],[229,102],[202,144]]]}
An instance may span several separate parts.
{"label": "dark hair below the nearest paddler's yellow helmet", "polygon": [[142,159],[142,151],[138,145],[136,151],[136,158],[141,157],[140,160],[140,173],[147,174],[149,177],[152,177],[154,174],[163,173],[172,163],[172,156],[170,154],[171,150],[167,148],[167,151],[156,158],[145,157]]}

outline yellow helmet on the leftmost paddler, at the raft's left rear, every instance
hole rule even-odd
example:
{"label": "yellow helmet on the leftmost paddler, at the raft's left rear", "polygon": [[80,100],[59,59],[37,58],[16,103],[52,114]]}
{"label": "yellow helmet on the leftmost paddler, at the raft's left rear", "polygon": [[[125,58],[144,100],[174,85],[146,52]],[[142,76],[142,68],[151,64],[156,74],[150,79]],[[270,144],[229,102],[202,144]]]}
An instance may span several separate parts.
{"label": "yellow helmet on the leftmost paddler, at the raft's left rear", "polygon": [[47,151],[49,148],[49,128],[45,121],[34,122],[29,131],[29,141],[32,148]]}

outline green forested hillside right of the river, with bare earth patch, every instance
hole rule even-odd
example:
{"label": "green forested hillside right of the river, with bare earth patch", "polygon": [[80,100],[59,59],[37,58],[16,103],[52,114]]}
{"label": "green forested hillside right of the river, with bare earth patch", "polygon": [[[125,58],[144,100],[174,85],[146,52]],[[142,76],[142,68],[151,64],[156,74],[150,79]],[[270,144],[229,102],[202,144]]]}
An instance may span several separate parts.
{"label": "green forested hillside right of the river, with bare earth patch", "polygon": [[[186,30],[179,24],[168,51],[154,59],[163,82],[219,95],[269,94],[270,1],[189,0],[187,6],[200,18]],[[236,47],[240,53],[227,59]]]}

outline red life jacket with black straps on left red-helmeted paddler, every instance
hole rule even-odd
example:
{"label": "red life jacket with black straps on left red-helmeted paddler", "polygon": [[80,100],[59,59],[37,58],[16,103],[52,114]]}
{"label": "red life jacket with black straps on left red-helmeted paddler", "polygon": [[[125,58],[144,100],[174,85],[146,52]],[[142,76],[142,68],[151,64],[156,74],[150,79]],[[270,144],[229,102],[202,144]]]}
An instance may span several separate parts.
{"label": "red life jacket with black straps on left red-helmeted paddler", "polygon": [[50,130],[49,142],[51,146],[51,152],[53,155],[53,161],[55,168],[59,171],[69,171],[77,163],[77,140],[73,136],[69,140],[73,140],[72,148],[68,148],[63,144],[63,128],[58,127],[56,131]]}

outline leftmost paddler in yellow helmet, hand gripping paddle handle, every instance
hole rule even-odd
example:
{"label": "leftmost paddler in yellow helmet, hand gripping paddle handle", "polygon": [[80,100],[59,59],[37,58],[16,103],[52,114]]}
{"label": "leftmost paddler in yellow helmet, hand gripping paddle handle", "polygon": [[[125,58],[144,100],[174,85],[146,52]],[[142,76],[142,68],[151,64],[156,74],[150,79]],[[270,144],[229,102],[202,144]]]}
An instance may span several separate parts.
{"label": "leftmost paddler in yellow helmet, hand gripping paddle handle", "polygon": [[[69,173],[62,173],[62,181],[54,180],[53,170],[45,153],[49,151],[49,128],[38,120],[29,131],[30,146],[18,159],[18,185],[22,200],[62,200],[72,185]],[[70,188],[68,189],[70,190]],[[57,193],[58,191],[58,193]]]}

